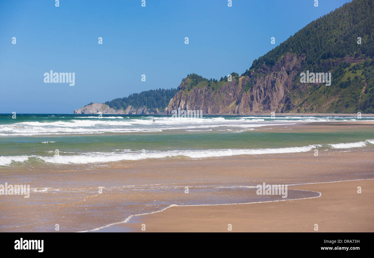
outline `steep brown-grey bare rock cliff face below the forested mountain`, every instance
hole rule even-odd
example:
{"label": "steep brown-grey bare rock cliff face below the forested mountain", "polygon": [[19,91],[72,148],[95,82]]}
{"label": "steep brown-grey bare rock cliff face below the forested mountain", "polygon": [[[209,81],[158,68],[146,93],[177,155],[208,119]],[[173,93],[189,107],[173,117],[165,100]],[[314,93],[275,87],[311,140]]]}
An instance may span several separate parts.
{"label": "steep brown-grey bare rock cliff face below the forested mountain", "polygon": [[[294,87],[303,91],[297,71],[301,69],[305,56],[288,54],[271,67],[261,66],[249,75],[233,77],[222,87],[214,90],[204,86],[186,88],[186,79],[179,86],[178,93],[165,109],[203,110],[203,114],[250,114],[260,112],[285,112],[296,106],[289,92]],[[298,83],[295,82],[298,80]],[[295,82],[295,84],[294,84]],[[293,85],[294,84],[294,85]],[[301,87],[301,88],[300,88]]]}

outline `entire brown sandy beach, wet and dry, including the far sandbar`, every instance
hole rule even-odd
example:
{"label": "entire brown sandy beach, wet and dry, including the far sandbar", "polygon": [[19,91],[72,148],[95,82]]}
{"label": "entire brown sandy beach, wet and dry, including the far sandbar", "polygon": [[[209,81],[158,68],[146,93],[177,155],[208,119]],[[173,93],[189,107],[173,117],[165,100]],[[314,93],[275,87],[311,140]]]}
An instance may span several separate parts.
{"label": "entire brown sandy beach, wet and dry, including the far sandbar", "polygon": [[[310,131],[356,130],[370,125],[334,125]],[[287,126],[288,127],[288,126]],[[295,125],[294,128],[306,128]],[[289,129],[283,127],[282,130]],[[310,128],[310,129],[309,129]],[[273,130],[273,129],[272,129]],[[270,130],[269,130],[270,131]],[[325,150],[263,155],[240,155],[206,159],[149,159],[114,162],[96,168],[78,165],[58,170],[33,168],[32,171],[0,171],[1,181],[30,184],[30,198],[0,196],[0,231],[28,232],[92,230],[126,220],[129,215],[149,209],[159,211],[169,205],[193,202],[184,187],[211,188],[198,196],[200,201],[217,186],[256,186],[300,184],[374,178],[374,150]],[[172,207],[162,212],[133,217],[129,223],[116,224],[99,231],[374,231],[374,180],[305,184],[289,189],[321,192],[320,198],[245,205]],[[104,187],[98,193],[98,187]],[[357,194],[357,187],[362,194]],[[127,189],[130,187],[130,189]],[[132,187],[132,188],[131,188]],[[235,199],[233,190],[226,197]],[[207,194],[207,195],[205,195]],[[208,201],[222,201],[220,194]],[[226,198],[225,197],[225,198]],[[174,202],[177,200],[178,202]],[[223,200],[224,201],[224,200]],[[246,202],[245,200],[242,202]],[[230,202],[233,203],[233,202]],[[153,206],[154,205],[154,206]],[[5,207],[5,208],[3,208]]]}

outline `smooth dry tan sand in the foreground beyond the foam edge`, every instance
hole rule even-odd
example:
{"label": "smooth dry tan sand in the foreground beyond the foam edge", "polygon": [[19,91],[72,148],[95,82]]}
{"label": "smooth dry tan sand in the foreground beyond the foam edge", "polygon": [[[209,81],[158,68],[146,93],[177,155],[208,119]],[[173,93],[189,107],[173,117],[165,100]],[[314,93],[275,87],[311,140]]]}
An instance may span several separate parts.
{"label": "smooth dry tan sand in the foreground beyond the foam edge", "polygon": [[[357,193],[357,187],[362,193]],[[120,224],[142,232],[373,232],[374,180],[305,184],[289,189],[321,192],[319,198],[217,206],[174,206]],[[117,227],[117,230],[120,229]]]}

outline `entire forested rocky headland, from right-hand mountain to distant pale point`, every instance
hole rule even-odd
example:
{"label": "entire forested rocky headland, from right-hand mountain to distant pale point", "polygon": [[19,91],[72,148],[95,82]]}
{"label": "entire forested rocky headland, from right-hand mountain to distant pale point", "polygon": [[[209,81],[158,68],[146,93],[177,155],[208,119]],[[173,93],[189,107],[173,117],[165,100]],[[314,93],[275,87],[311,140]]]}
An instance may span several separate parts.
{"label": "entire forested rocky headland, from right-hand mountain to distant pale point", "polygon": [[[352,0],[255,59],[240,76],[232,73],[218,81],[190,74],[177,90],[132,94],[105,102],[112,108],[95,103],[74,112],[153,114],[151,108],[166,106],[164,114],[178,108],[203,114],[374,114],[373,25],[374,1]],[[331,83],[301,82],[301,74],[309,72],[329,74]]]}

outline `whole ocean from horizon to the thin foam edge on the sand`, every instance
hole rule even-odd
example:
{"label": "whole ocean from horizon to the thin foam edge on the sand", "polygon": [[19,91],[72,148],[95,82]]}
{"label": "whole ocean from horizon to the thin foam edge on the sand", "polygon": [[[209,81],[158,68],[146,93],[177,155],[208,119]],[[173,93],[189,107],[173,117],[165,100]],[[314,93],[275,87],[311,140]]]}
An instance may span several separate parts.
{"label": "whole ocean from horizon to the thin foam edge on the sand", "polygon": [[170,205],[318,198],[256,186],[373,178],[363,121],[374,116],[1,114],[0,184],[30,185],[30,198],[0,197],[0,231],[126,231]]}

